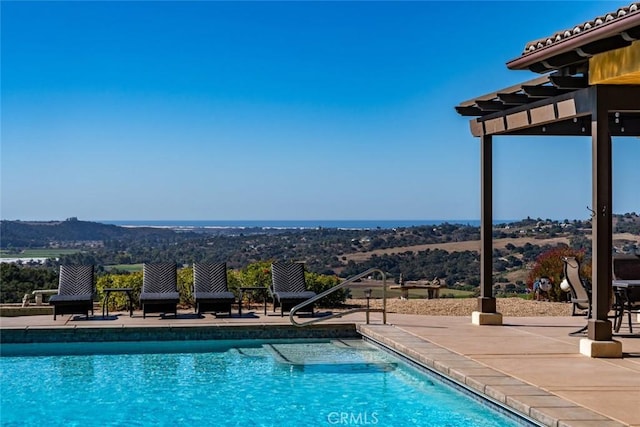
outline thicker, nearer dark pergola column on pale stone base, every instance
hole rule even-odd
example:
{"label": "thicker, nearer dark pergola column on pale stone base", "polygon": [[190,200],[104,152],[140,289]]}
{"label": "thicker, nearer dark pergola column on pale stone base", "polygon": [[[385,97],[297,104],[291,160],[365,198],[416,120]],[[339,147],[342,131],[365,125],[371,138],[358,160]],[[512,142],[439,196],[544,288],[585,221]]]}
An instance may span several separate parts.
{"label": "thicker, nearer dark pergola column on pale stone base", "polygon": [[[600,93],[598,93],[600,95]],[[608,110],[596,97],[591,121],[592,147],[592,318],[580,353],[590,357],[622,357],[622,343],[614,341],[608,313],[611,308],[612,264],[612,147]],[[603,102],[600,100],[600,104]]]}

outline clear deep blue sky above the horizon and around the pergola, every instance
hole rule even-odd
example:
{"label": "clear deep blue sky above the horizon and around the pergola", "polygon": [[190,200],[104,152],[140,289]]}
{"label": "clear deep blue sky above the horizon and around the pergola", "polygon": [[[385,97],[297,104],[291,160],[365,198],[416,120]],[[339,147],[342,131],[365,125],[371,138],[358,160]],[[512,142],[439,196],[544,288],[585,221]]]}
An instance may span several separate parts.
{"label": "clear deep blue sky above the horizon and around the pergola", "polygon": [[[2,219],[477,219],[454,106],[629,2],[7,2]],[[614,211],[640,212],[637,138]],[[494,139],[494,216],[588,218],[590,138]]]}

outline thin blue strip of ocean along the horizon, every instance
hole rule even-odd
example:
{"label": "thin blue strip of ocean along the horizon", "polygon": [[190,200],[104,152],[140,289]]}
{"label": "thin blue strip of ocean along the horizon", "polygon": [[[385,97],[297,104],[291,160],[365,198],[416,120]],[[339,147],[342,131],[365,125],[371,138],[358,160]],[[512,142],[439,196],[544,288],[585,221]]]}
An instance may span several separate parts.
{"label": "thin blue strip of ocean along the horizon", "polygon": [[[506,224],[515,220],[499,220],[494,224]],[[479,227],[477,219],[384,219],[384,220],[100,220],[103,224],[113,224],[121,227],[158,227],[171,229],[195,229],[195,228],[261,228],[261,229],[318,229],[336,228],[342,230],[373,230],[417,227],[424,225],[440,225],[444,223],[469,225]]]}

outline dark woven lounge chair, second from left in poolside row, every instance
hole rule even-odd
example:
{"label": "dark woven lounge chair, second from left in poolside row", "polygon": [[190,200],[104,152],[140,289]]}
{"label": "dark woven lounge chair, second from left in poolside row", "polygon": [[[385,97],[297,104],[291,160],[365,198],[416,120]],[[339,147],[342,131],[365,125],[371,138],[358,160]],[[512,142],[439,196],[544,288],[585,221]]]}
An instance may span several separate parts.
{"label": "dark woven lounge chair, second from left in poolside row", "polygon": [[140,306],[142,317],[147,313],[174,313],[178,317],[177,268],[174,263],[145,264],[142,276]]}

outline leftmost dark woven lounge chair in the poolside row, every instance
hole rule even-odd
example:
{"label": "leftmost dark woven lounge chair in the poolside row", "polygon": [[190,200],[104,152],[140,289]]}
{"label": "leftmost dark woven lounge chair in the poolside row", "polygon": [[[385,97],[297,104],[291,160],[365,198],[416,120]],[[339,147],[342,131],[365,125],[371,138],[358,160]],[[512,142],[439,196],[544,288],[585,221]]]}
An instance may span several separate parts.
{"label": "leftmost dark woven lounge chair in the poolside row", "polygon": [[93,265],[61,265],[58,293],[49,298],[53,320],[58,314],[93,316]]}

